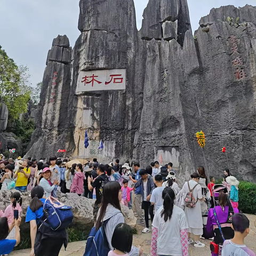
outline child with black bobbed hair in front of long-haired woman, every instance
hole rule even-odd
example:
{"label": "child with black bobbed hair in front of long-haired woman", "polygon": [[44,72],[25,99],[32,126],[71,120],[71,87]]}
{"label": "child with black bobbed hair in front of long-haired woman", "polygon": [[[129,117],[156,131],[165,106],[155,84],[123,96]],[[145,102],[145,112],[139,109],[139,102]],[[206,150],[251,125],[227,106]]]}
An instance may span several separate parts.
{"label": "child with black bobbed hair in front of long-haired woman", "polygon": [[[113,233],[111,244],[114,247],[113,251],[108,253],[108,256],[118,256],[125,255],[128,256],[129,252],[132,250],[132,228],[125,224],[119,223]],[[143,250],[139,247],[140,253],[142,254]]]}

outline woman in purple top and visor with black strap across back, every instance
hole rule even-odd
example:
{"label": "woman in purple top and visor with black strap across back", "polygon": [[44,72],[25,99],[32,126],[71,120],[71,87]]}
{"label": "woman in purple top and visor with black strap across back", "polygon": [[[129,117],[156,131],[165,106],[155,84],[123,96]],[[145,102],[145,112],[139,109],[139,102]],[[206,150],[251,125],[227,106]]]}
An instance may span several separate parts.
{"label": "woman in purple top and visor with black strap across back", "polygon": [[[215,206],[214,209],[217,215],[217,219],[219,220],[219,223],[220,223],[222,234],[225,240],[231,239],[234,237],[234,230],[231,228],[232,216],[235,213],[238,213],[239,211],[238,209],[233,209],[233,206],[231,205],[231,202],[228,197],[227,188],[225,186],[215,185],[214,197],[215,197],[215,202],[218,205],[218,206]],[[215,247],[219,246],[219,251],[221,251],[224,241],[223,241],[220,229],[218,227],[217,220],[214,216],[213,208],[210,209],[208,214],[206,230],[209,237],[214,237],[214,243],[216,244]],[[213,246],[211,245],[211,247]],[[221,253],[218,254],[212,251],[212,256],[218,256],[218,255],[221,255]]]}

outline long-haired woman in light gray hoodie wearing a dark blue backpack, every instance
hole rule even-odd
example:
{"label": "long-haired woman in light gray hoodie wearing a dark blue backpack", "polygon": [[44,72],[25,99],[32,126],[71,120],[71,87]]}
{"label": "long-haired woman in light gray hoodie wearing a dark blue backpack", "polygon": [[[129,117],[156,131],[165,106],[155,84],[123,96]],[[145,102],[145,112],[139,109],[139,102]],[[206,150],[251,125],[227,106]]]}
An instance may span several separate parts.
{"label": "long-haired woman in light gray hoodie wearing a dark blue backpack", "polygon": [[[106,234],[107,243],[110,250],[114,250],[111,240],[116,226],[119,223],[124,223],[124,215],[121,212],[120,205],[121,200],[122,189],[120,184],[117,181],[110,181],[106,183],[106,185],[103,188],[103,199],[101,207],[99,209],[97,222],[95,225],[95,231],[99,230],[102,224],[104,225],[103,231]],[[98,244],[98,250],[100,250],[102,243],[103,241],[95,241],[95,244]],[[89,240],[87,240],[86,249],[84,253],[85,256],[90,254],[89,251],[92,250],[92,246],[94,246],[95,244],[93,243],[93,241],[89,242]],[[142,250],[133,246],[131,252],[128,253],[129,255],[132,256],[139,256],[142,254]]]}

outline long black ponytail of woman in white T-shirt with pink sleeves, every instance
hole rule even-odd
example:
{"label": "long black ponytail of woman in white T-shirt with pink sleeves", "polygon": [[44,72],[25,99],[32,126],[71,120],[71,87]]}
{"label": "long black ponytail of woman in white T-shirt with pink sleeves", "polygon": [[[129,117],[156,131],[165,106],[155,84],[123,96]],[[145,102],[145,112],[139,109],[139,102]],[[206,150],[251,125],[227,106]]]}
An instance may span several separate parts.
{"label": "long black ponytail of woman in white T-shirt with pink sleeves", "polygon": [[161,213],[161,217],[164,216],[164,221],[166,222],[168,219],[171,220],[171,218],[172,218],[175,192],[172,188],[166,187],[163,190],[162,197],[164,199],[164,203],[163,203],[164,209]]}

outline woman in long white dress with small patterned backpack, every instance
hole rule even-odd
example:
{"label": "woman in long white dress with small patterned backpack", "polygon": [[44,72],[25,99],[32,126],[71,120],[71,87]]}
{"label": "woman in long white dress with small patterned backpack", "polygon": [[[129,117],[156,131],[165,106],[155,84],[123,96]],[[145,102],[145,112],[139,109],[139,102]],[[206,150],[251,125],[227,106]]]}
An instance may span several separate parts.
{"label": "woman in long white dress with small patterned backpack", "polygon": [[185,195],[185,214],[188,221],[188,244],[194,243],[190,238],[193,233],[195,237],[195,247],[203,248],[205,244],[199,241],[200,236],[203,235],[203,219],[201,213],[201,201],[204,200],[202,196],[201,186],[198,184],[199,175],[197,172],[191,174],[191,180],[186,182],[181,189],[181,195]]}

